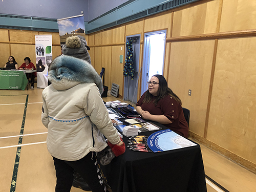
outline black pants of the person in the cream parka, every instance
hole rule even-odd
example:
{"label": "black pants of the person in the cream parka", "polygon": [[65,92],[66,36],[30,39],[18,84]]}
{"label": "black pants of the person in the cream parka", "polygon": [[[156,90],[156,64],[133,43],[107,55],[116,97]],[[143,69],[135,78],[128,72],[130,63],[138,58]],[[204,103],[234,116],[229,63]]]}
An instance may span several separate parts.
{"label": "black pants of the person in the cream parka", "polygon": [[95,153],[90,152],[78,161],[63,161],[53,157],[57,183],[56,192],[69,192],[73,183],[74,170],[88,183],[93,192],[105,192]]}

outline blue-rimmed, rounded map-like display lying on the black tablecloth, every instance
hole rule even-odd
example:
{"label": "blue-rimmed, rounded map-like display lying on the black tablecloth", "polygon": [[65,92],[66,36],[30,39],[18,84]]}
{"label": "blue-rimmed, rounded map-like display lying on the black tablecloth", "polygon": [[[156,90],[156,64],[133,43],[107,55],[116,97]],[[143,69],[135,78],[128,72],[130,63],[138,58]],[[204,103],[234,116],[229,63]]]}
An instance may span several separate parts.
{"label": "blue-rimmed, rounded map-like display lying on the black tablecloth", "polygon": [[154,153],[157,153],[176,150],[177,148],[196,146],[197,144],[167,129],[151,134],[147,138],[147,145]]}

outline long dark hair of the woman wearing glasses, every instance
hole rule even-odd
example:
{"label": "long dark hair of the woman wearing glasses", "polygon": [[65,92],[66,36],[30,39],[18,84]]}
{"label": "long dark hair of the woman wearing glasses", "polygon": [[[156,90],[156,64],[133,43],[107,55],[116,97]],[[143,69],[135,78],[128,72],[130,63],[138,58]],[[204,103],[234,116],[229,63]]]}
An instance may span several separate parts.
{"label": "long dark hair of the woman wearing glasses", "polygon": [[[168,88],[168,84],[164,76],[157,74],[157,75],[153,75],[153,77],[157,77],[159,79],[159,84],[158,84],[159,88],[157,91],[157,98],[153,102],[155,103],[155,105],[157,105],[157,102],[163,99],[166,95],[172,96],[176,101],[178,101],[181,104],[180,98],[170,88]],[[151,100],[151,94],[147,90],[145,93],[145,97],[143,99],[143,103],[148,103],[150,102],[150,100]]]}

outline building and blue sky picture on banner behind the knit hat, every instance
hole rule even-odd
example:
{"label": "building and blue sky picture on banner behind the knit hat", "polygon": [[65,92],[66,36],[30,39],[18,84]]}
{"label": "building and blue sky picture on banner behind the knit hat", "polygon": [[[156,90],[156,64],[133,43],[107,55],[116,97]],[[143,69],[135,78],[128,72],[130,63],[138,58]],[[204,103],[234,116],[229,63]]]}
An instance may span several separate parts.
{"label": "building and blue sky picture on banner behind the knit hat", "polygon": [[60,46],[65,44],[66,38],[72,35],[81,35],[86,37],[86,31],[84,26],[83,14],[57,19],[59,28]]}

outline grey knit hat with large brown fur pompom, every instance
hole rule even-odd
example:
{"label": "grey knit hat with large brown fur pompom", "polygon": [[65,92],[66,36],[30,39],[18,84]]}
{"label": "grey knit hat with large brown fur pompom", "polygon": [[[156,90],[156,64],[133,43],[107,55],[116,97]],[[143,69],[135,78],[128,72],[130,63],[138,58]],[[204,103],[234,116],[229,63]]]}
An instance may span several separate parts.
{"label": "grey knit hat with large brown fur pompom", "polygon": [[87,46],[86,38],[81,35],[75,35],[66,39],[66,44],[62,46],[62,53],[64,55],[73,56],[91,63],[91,57],[88,51],[90,47]]}

